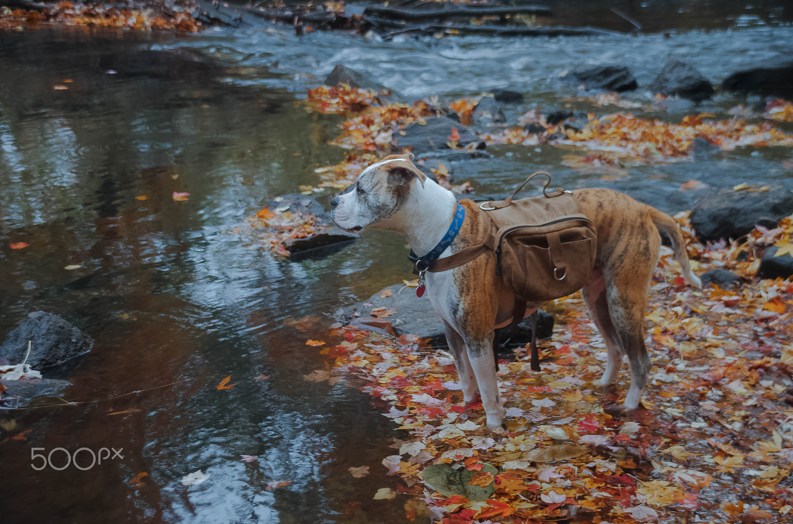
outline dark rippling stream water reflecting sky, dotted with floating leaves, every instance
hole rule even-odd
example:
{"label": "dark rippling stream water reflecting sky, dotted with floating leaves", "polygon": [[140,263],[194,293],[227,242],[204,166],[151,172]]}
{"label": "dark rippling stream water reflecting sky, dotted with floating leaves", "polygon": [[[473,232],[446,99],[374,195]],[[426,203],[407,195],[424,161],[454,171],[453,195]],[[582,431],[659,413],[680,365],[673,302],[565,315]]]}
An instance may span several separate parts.
{"label": "dark rippling stream water reflecting sky, dotted with floating leaves", "polygon": [[[715,83],[746,63],[789,55],[793,28],[757,20],[671,38],[389,43],[329,32],[298,38],[279,26],[197,36],[0,33],[0,335],[43,309],[94,336],[69,377],[71,401],[187,379],[0,415],[31,430],[0,443],[3,521],[405,522],[404,501],[371,500],[395,484],[380,461],[400,432],[356,389],[303,380],[324,366],[304,341],[322,336],[334,309],[408,277],[404,241],[367,233],[341,253],[298,263],[225,233],[266,199],[316,184],[314,169],[343,157],[327,145],[339,118],[309,114],[296,99],[345,63],[408,98],[526,93],[507,109],[514,121],[534,104],[564,107],[562,97],[576,92],[556,78],[575,66],[623,63],[646,85],[676,56]],[[156,66],[151,51],[179,48],[185,59]],[[693,111],[724,115],[737,103],[745,100],[720,94]],[[561,165],[566,152],[554,147],[488,150],[491,159],[452,166],[481,195],[505,192],[534,169],[553,170],[569,188],[619,188],[665,211],[691,207],[698,196],[678,191],[691,178],[790,187],[782,163],[790,148],[645,166],[615,182]],[[174,202],[172,192],[190,198]],[[29,247],[10,250],[17,241]],[[305,315],[320,317],[316,328],[283,324]],[[236,385],[215,389],[229,374]],[[255,380],[260,374],[269,378]],[[31,469],[32,447],[58,446],[123,447],[125,458],[90,471]],[[370,477],[347,473],[361,465]],[[210,480],[179,483],[197,469]],[[148,476],[133,485],[139,473]],[[291,484],[268,491],[273,480]]]}

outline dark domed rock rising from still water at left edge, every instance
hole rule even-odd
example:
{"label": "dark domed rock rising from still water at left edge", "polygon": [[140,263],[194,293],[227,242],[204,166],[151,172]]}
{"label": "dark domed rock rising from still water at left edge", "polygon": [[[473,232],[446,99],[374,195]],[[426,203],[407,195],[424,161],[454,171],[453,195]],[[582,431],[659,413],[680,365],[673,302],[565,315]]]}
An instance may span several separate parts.
{"label": "dark domed rock rising from still water at left edge", "polygon": [[34,311],[8,334],[0,346],[0,359],[11,365],[21,363],[28,351],[28,340],[31,344],[27,363],[42,374],[94,347],[94,339],[58,315]]}

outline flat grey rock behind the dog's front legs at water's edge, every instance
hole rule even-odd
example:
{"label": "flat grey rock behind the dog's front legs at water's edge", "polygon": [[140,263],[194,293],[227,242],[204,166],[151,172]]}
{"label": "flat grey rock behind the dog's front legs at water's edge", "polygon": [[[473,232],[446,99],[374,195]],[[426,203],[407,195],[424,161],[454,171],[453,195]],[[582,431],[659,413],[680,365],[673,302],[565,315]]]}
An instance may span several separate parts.
{"label": "flat grey rock behind the dog's front legs at water's edge", "polygon": [[[355,306],[347,309],[347,317],[353,318],[356,314],[362,318],[369,318],[370,311],[376,307],[385,306],[387,309],[394,309],[394,313],[387,320],[390,321],[394,332],[397,335],[412,334],[422,338],[430,339],[434,346],[446,346],[446,334],[443,331],[443,321],[435,313],[435,308],[426,296],[419,298],[416,296],[416,289],[406,287],[400,294],[402,284],[386,287],[392,290],[392,295],[381,298],[380,293],[372,295],[366,302],[359,302]],[[364,306],[363,304],[372,306]],[[374,318],[374,317],[373,317]],[[385,319],[384,319],[385,320]],[[361,325],[358,321],[356,325]],[[554,330],[554,317],[540,309],[537,323],[538,338],[551,336]],[[515,347],[531,342],[531,318],[523,319],[519,325],[508,328],[496,329],[497,346]]]}

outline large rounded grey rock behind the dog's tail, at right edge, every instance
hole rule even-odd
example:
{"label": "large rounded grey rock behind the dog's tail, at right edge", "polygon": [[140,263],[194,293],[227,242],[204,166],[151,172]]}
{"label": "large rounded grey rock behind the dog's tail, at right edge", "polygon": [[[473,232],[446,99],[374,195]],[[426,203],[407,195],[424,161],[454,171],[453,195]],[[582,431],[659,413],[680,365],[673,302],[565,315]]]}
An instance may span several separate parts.
{"label": "large rounded grey rock behind the dog's tail, at right edge", "polygon": [[754,226],[776,227],[793,213],[793,193],[783,188],[766,192],[722,189],[700,200],[691,210],[691,226],[699,241],[737,240]]}

